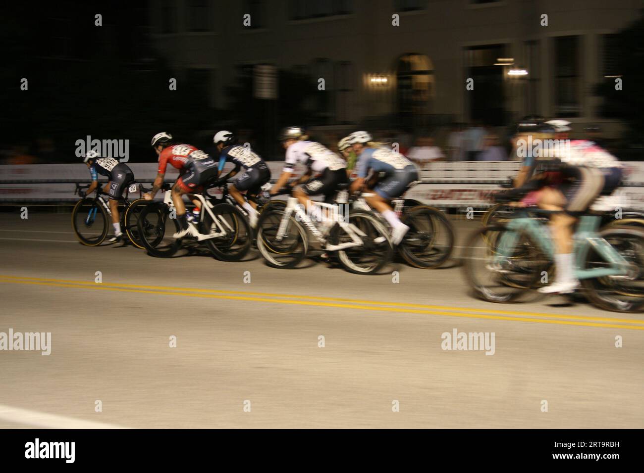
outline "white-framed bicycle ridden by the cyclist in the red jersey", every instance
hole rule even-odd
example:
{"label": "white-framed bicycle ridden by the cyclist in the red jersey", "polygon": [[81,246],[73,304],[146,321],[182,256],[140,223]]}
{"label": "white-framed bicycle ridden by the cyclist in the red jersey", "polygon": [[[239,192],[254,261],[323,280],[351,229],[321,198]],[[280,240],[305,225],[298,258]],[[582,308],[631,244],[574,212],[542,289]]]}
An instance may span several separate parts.
{"label": "white-framed bicycle ridden by the cyclist in the red jersey", "polygon": [[[198,243],[204,243],[217,259],[239,261],[248,254],[252,244],[251,227],[240,210],[225,201],[208,194],[208,189],[222,185],[217,181],[207,185],[200,194],[193,194],[201,203],[199,220],[196,224],[201,236]],[[138,219],[138,231],[148,254],[156,257],[172,257],[183,245],[183,241],[193,237],[175,239],[173,234],[180,230],[176,216],[171,185],[161,186],[164,192],[162,202],[147,201]],[[168,223],[168,219],[174,225]]]}

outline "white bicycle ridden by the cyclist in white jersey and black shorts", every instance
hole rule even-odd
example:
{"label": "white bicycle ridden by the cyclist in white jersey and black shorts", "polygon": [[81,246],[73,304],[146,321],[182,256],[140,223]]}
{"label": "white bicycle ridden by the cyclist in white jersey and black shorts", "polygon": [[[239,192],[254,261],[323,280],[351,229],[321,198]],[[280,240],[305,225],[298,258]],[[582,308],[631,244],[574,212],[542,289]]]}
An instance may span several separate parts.
{"label": "white bicycle ridden by the cyclist in white jersey and black shorts", "polygon": [[[283,189],[279,194],[290,194]],[[337,204],[314,202],[327,211],[332,226],[321,231],[312,222],[298,199],[289,197],[284,209],[262,212],[258,221],[257,247],[269,266],[294,268],[309,252],[308,232],[321,252],[334,253],[347,270],[354,274],[374,274],[393,255],[389,232],[379,218],[365,210],[351,210],[346,218]]]}

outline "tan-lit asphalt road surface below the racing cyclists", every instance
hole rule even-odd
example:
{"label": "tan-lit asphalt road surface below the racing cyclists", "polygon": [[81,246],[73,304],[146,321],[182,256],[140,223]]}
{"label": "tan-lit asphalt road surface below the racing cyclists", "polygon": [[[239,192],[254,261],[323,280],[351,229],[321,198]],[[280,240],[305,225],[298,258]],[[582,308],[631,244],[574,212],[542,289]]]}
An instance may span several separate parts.
{"label": "tan-lit asphalt road surface below the racing cyclists", "polygon": [[[462,246],[478,223],[455,224]],[[644,315],[478,301],[460,247],[440,270],[277,270],[90,248],[35,211],[1,213],[0,243],[0,337],[52,334],[0,351],[0,427],[644,427]],[[453,330],[493,355],[442,349]]]}

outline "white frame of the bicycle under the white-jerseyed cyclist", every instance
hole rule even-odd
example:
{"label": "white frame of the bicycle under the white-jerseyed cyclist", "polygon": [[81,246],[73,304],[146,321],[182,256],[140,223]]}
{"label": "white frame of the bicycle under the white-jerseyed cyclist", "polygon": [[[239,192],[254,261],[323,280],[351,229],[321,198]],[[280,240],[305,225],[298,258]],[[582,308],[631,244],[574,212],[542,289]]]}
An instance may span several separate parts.
{"label": "white frame of the bicycle under the white-jerseyed cyclist", "polygon": [[327,214],[330,213],[332,215],[334,224],[339,225],[340,228],[342,228],[345,233],[351,237],[352,241],[340,243],[339,245],[328,245],[327,240],[325,239],[322,232],[317,229],[316,225],[308,217],[307,212],[305,212],[302,206],[299,204],[298,199],[294,197],[289,197],[289,199],[287,200],[286,209],[284,209],[284,215],[279,222],[278,234],[276,236],[277,241],[281,241],[281,239],[287,235],[286,228],[289,225],[289,218],[292,214],[295,214],[296,219],[298,219],[298,221],[301,221],[320,243],[327,245],[324,248],[326,251],[337,251],[344,250],[345,248],[352,248],[354,246],[363,246],[363,241],[360,237],[365,237],[365,232],[355,227],[354,224],[346,222],[340,212],[337,211],[338,206],[336,204],[313,201],[311,202],[311,204],[318,205],[322,209],[327,209],[329,211],[327,212]]}

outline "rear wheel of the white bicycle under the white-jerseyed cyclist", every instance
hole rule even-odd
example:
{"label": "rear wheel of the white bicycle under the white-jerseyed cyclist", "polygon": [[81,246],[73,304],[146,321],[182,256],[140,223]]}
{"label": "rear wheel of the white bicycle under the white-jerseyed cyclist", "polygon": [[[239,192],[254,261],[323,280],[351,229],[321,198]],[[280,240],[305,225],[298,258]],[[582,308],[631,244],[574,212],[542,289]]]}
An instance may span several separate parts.
{"label": "rear wheel of the white bicycle under the white-jerseyed cyclist", "polygon": [[[343,268],[354,274],[374,274],[392,260],[393,247],[387,228],[381,219],[371,212],[354,210],[349,212],[348,223],[358,230],[363,244],[338,250],[337,256]],[[352,238],[339,225],[329,233],[329,243],[341,245],[352,242]]]}

